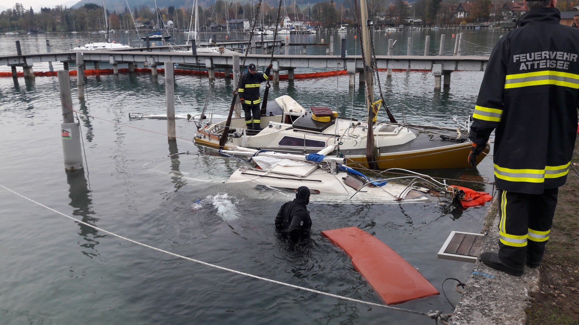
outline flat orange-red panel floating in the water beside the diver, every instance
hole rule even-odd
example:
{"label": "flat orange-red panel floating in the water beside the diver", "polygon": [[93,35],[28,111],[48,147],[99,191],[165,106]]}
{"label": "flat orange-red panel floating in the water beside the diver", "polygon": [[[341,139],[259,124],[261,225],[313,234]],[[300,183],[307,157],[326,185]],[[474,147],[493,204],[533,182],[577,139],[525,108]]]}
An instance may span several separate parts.
{"label": "flat orange-red panel floating in the water beside the diver", "polygon": [[356,227],[322,231],[334,245],[345,250],[356,271],[382,297],[386,304],[439,294],[412,265],[368,232]]}

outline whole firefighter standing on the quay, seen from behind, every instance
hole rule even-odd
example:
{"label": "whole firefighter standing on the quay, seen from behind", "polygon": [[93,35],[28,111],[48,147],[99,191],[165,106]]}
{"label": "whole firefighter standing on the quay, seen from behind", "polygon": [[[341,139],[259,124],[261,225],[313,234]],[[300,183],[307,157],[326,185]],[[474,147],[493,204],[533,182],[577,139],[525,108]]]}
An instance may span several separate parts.
{"label": "whole firefighter standing on the quay, seen from behind", "polygon": [[512,275],[543,258],[576,139],[579,30],[559,20],[558,9],[532,9],[499,39],[472,115],[469,138],[477,147],[496,128],[499,253],[490,264],[491,253],[481,260]]}

